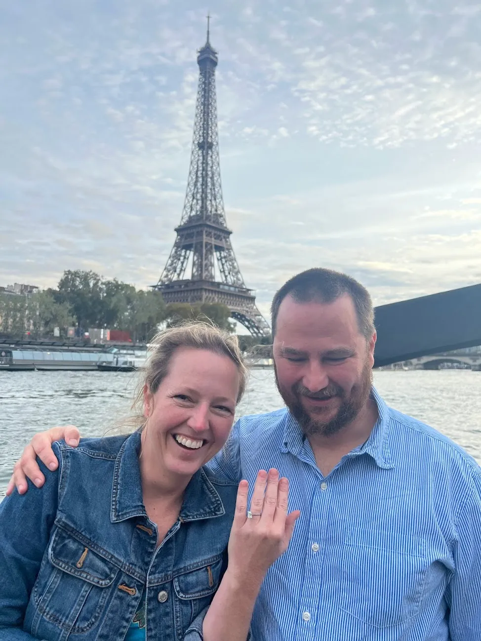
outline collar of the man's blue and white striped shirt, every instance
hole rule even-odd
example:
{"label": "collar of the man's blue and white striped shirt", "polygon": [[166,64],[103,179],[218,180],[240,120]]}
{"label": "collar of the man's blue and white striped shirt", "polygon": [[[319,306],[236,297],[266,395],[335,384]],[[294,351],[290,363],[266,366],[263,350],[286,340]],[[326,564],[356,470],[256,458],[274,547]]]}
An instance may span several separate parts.
{"label": "collar of the man's blue and white striped shirt", "polygon": [[[360,454],[369,454],[375,460],[378,467],[382,469],[391,469],[394,467],[392,462],[391,451],[389,448],[390,420],[389,408],[384,403],[377,390],[371,388],[371,399],[376,403],[378,409],[378,420],[364,444],[353,449],[347,456],[359,456]],[[291,412],[286,410],[282,442],[280,449],[282,452],[291,452],[298,456],[305,442],[305,436],[298,420]]]}

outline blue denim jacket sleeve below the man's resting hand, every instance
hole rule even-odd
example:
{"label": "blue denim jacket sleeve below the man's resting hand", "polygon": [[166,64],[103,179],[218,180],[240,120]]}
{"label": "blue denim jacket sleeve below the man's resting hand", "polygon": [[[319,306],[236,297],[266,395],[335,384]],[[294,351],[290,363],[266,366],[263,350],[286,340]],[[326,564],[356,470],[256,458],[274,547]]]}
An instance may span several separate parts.
{"label": "blue denim jacket sleeve below the man's resting hand", "polygon": [[[57,452],[56,452],[57,453]],[[33,639],[22,630],[30,594],[55,522],[59,471],[37,460],[46,481],[41,488],[28,481],[26,494],[17,490],[0,503],[0,638]],[[59,466],[60,469],[60,466]]]}

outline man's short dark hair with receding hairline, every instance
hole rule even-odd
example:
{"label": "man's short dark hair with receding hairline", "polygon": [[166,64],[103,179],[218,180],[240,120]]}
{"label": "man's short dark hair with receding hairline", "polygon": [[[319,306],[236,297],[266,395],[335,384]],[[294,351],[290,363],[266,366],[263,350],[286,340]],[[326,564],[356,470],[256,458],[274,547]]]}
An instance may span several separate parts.
{"label": "man's short dark hair with receding hairline", "polygon": [[297,303],[333,303],[343,294],[348,294],[354,303],[359,331],[366,340],[375,332],[374,308],[371,296],[366,287],[347,274],[332,269],[314,267],[296,274],[284,283],[274,295],[271,305],[272,335],[276,333],[276,320],[280,304],[286,296],[292,296]]}

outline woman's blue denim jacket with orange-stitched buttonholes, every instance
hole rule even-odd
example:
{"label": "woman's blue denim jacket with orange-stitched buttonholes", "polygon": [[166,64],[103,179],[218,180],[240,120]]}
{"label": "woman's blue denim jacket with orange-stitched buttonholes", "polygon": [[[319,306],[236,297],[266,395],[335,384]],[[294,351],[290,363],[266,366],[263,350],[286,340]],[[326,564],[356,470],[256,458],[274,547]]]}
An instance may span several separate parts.
{"label": "woman's blue denim jacket with orange-stitched buttonholes", "polygon": [[146,590],[146,639],[199,641],[226,568],[237,485],[207,469],[155,549],[140,434],[53,445],[56,472],[0,504],[2,641],[124,638]]}

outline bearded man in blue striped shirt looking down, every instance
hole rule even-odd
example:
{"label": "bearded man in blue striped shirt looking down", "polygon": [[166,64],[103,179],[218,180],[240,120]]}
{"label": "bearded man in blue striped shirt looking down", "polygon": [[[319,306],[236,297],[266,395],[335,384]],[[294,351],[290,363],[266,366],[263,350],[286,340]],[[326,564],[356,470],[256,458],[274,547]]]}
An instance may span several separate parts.
{"label": "bearded man in blue striped shirt looking down", "polygon": [[[481,470],[373,388],[373,321],[368,292],[345,274],[287,281],[272,304],[287,408],[239,419],[209,463],[251,486],[275,467],[289,478],[289,509],[301,510],[258,596],[255,640],[481,640]],[[47,467],[63,437],[78,433],[37,435]],[[34,457],[30,447],[17,466],[21,491],[23,471],[42,483]]]}

